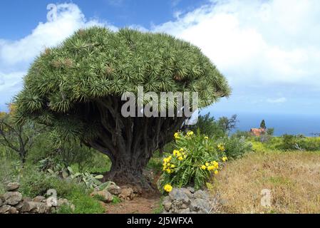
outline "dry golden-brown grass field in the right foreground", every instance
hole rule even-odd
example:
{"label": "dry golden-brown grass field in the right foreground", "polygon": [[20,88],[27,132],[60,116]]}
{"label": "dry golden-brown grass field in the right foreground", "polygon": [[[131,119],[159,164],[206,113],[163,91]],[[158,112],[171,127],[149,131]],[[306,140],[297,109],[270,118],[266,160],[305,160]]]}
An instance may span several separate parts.
{"label": "dry golden-brown grass field in the right foreground", "polygon": [[[320,152],[256,152],[229,162],[212,191],[225,213],[320,213]],[[271,207],[261,191],[271,190]]]}

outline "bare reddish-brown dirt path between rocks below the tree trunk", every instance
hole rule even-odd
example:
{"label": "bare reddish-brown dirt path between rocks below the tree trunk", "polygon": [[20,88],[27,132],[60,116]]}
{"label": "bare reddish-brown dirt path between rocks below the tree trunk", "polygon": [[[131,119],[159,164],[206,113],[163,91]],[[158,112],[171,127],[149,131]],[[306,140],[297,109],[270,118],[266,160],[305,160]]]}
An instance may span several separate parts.
{"label": "bare reddish-brown dirt path between rocks below the tree trunk", "polygon": [[118,204],[106,204],[106,214],[153,214],[159,207],[160,197],[137,197],[133,200],[125,200]]}

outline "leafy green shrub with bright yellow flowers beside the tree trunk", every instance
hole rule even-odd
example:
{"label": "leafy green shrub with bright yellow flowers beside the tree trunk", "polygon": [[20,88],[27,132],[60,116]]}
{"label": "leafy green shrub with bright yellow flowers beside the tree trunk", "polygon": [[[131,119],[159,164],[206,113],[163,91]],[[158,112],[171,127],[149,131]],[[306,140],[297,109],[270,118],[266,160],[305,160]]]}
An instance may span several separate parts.
{"label": "leafy green shrub with bright yellow flowers beside the tree trunk", "polygon": [[205,187],[211,176],[217,175],[227,161],[224,145],[200,133],[175,133],[175,150],[166,154],[158,182],[162,191],[172,187],[192,185],[196,190]]}

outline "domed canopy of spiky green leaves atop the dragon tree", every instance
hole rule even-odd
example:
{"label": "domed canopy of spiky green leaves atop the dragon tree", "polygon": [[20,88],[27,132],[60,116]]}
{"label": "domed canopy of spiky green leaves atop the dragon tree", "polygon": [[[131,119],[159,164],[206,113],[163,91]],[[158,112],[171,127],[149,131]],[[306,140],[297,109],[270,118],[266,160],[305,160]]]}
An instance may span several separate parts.
{"label": "domed canopy of spiky green leaves atop the dragon tree", "polygon": [[143,86],[196,91],[200,108],[229,95],[226,79],[200,48],[165,33],[92,27],[36,58],[16,98],[18,115],[50,123],[77,105]]}

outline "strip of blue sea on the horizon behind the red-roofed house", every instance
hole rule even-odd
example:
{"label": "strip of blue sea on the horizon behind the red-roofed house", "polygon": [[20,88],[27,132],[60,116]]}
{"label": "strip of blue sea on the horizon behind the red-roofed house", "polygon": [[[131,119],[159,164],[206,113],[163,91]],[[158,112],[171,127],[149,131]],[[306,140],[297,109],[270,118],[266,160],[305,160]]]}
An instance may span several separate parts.
{"label": "strip of blue sea on the horizon behind the red-roofed house", "polygon": [[[202,112],[201,114],[205,114]],[[221,116],[231,117],[237,114],[236,130],[249,131],[250,128],[259,128],[262,120],[265,120],[267,128],[274,128],[274,135],[306,135],[320,133],[320,115],[297,115],[297,114],[266,114],[266,113],[217,113],[210,110],[215,119]]]}

